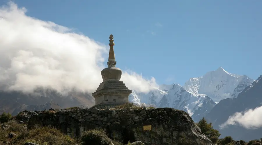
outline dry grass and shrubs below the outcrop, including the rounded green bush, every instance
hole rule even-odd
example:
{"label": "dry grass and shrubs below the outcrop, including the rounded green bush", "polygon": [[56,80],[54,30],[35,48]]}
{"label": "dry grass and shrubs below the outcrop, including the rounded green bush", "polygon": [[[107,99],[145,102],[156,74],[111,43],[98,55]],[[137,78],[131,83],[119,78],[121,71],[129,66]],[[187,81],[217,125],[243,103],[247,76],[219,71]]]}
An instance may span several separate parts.
{"label": "dry grass and shrubs below the outcrop, including the rounded green bush", "polygon": [[[54,127],[35,127],[28,130],[26,124],[18,124],[15,120],[10,120],[5,125],[10,127],[4,130],[0,128],[0,145],[6,145],[7,142],[15,145],[24,145],[26,142],[40,145],[108,145],[113,142],[115,145],[123,145],[121,142],[111,140],[102,129],[88,130],[81,138],[71,138]],[[8,133],[16,135],[14,138],[8,138]]]}

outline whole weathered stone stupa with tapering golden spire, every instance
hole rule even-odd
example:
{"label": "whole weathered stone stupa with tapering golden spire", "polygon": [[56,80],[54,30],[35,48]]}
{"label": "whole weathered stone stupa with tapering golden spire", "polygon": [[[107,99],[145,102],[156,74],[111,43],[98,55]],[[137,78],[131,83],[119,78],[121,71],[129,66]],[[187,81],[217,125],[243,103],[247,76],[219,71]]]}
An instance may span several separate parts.
{"label": "whole weathered stone stupa with tapering golden spire", "polygon": [[95,97],[95,106],[92,108],[108,109],[114,108],[116,105],[125,104],[128,102],[128,96],[132,93],[123,81],[120,81],[122,70],[116,67],[114,54],[114,36],[109,36],[109,56],[107,68],[101,71],[103,82],[92,93]]}

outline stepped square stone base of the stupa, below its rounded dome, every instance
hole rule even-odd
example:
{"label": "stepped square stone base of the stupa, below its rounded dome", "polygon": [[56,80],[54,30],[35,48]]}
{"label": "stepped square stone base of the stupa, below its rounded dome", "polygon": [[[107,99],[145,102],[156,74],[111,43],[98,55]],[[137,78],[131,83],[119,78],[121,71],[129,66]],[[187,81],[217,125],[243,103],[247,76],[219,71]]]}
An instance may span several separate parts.
{"label": "stepped square stone base of the stupa, below its rounded dome", "polygon": [[105,80],[98,86],[95,93],[92,93],[92,96],[95,97],[95,106],[116,106],[128,103],[128,96],[131,93],[132,90],[129,90],[123,81]]}

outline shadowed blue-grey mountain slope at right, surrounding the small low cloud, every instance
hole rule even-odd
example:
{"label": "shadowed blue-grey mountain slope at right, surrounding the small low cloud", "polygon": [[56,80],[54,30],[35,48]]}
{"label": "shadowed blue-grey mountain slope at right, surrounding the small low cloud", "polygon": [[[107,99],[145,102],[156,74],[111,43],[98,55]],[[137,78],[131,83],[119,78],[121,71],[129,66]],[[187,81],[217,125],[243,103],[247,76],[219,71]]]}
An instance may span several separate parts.
{"label": "shadowed blue-grey mountain slope at right, surrounding the small low cloud", "polygon": [[[227,122],[229,117],[236,112],[245,112],[248,109],[254,109],[261,106],[262,96],[262,75],[254,81],[250,86],[247,86],[237,98],[221,100],[211,111],[207,114],[206,119],[213,123],[214,128],[219,129],[223,136],[231,135],[234,139],[252,140],[261,138],[262,129],[244,128],[241,122],[244,119],[232,120],[225,128],[220,129],[219,125]],[[257,114],[259,115],[259,114]],[[252,116],[253,118],[256,116]],[[252,118],[249,118],[252,119]],[[250,123],[250,122],[249,122]]]}

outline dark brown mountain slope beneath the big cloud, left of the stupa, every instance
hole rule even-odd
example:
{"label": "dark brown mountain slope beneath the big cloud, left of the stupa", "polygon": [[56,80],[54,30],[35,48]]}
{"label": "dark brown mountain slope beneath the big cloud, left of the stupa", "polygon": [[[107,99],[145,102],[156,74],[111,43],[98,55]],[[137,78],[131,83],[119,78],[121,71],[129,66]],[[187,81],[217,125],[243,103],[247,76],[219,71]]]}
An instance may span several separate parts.
{"label": "dark brown mountain slope beneath the big cloud, left of the stupa", "polygon": [[91,107],[93,105],[94,98],[90,94],[77,91],[70,91],[66,94],[51,89],[37,89],[30,94],[19,91],[0,92],[0,114],[9,112],[16,115],[25,109],[33,111],[75,106]]}

